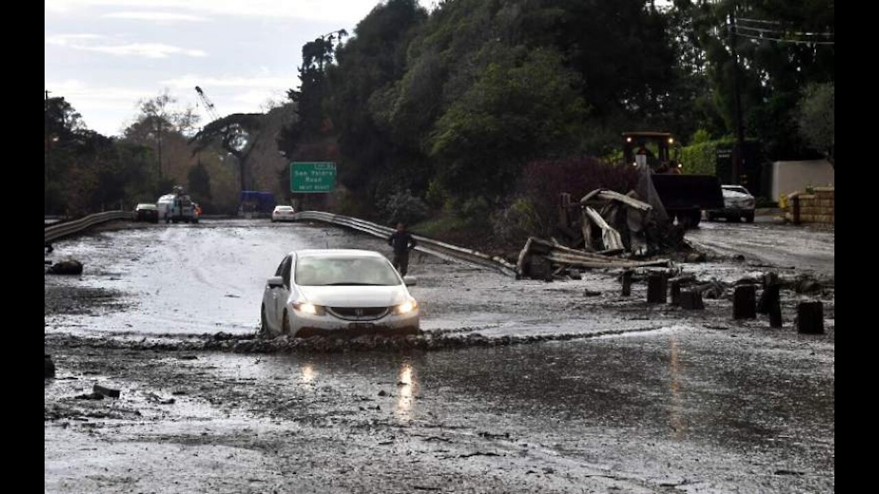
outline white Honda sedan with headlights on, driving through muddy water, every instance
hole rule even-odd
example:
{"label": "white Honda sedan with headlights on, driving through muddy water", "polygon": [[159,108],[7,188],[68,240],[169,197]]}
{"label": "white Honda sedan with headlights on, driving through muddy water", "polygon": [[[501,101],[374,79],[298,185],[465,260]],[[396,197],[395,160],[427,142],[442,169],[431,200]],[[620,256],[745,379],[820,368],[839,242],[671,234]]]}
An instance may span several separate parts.
{"label": "white Honda sedan with headlights on, driving through muddy water", "polygon": [[374,251],[293,251],[265,284],[260,333],[359,336],[418,334],[418,302],[394,266]]}

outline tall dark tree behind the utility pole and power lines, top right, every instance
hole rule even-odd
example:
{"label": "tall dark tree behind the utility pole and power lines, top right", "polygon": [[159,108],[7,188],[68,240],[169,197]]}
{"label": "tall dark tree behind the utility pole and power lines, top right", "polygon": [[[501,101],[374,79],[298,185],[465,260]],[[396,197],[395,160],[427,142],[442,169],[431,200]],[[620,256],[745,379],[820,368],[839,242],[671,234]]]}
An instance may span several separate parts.
{"label": "tall dark tree behind the utility pole and power lines, top right", "polygon": [[[691,20],[705,55],[713,104],[724,123],[715,134],[737,128],[738,81],[745,132],[763,142],[768,156],[802,156],[806,146],[795,123],[800,93],[835,76],[833,1],[678,0],[675,9]],[[737,19],[734,37],[731,17]]]}

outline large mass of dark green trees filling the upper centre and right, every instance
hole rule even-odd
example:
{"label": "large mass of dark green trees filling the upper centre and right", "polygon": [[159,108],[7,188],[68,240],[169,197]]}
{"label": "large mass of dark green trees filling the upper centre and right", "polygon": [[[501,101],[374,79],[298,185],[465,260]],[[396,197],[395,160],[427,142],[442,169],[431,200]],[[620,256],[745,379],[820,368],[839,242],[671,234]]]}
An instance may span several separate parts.
{"label": "large mass of dark green trees filling the upper centre and right", "polygon": [[[832,2],[735,4],[733,38],[732,0],[665,10],[644,0],[449,0],[431,12],[388,0],[350,39],[302,48],[311,55],[290,92],[299,119],[280,146],[312,159],[332,149],[361,214],[381,217],[408,191],[466,219],[521,206],[528,163],[612,156],[623,131],[670,131],[685,145],[699,134],[683,161],[713,171],[717,144],[737,130],[737,74],[745,136],[767,156],[832,149],[826,125],[824,141],[807,133],[823,125],[827,98],[803,103],[817,98],[803,87],[832,83],[833,46],[800,42],[832,40]],[[830,102],[832,122],[832,92]]]}

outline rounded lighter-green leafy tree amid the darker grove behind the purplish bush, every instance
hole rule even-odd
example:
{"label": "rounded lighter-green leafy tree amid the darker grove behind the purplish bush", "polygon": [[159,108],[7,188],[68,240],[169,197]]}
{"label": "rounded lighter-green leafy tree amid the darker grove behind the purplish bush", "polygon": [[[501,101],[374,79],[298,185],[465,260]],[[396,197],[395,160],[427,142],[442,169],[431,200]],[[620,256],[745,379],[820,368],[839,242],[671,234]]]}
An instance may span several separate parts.
{"label": "rounded lighter-green leafy tree amid the darker grove behind the purplish bush", "polygon": [[555,50],[498,47],[480,79],[437,121],[431,156],[462,199],[497,202],[534,156],[567,154],[583,134],[578,75]]}

